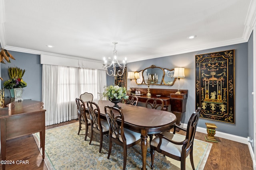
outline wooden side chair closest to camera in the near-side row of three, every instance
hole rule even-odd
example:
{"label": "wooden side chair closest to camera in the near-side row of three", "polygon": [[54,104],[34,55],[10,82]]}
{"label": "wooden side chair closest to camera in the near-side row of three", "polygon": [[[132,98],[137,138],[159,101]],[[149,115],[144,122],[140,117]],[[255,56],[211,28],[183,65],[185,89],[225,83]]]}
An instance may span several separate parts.
{"label": "wooden side chair closest to camera in the near-side row of three", "polygon": [[123,170],[126,168],[127,148],[132,147],[141,141],[140,133],[124,128],[124,115],[116,107],[104,107],[109,125],[109,149],[108,159],[112,149],[112,141],[124,149]]}

